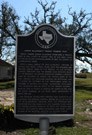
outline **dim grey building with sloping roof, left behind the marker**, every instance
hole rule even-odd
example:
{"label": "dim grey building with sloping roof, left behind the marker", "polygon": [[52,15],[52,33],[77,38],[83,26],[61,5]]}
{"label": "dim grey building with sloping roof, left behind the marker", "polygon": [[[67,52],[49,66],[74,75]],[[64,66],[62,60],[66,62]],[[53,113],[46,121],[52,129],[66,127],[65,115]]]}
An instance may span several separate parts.
{"label": "dim grey building with sloping roof, left behind the marker", "polygon": [[14,66],[0,59],[0,81],[14,79]]}

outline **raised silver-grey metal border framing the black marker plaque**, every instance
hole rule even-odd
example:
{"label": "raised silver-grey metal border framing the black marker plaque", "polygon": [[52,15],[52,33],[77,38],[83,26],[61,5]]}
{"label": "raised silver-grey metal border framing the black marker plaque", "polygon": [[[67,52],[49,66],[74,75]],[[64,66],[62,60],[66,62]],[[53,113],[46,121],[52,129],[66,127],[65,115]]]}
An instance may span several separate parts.
{"label": "raised silver-grey metal border framing the black marker plaque", "polygon": [[[73,114],[16,114],[16,85],[17,85],[17,52],[18,52],[18,37],[26,37],[26,36],[31,36],[36,29],[38,29],[39,27],[42,26],[50,26],[53,29],[55,29],[57,31],[57,33],[59,35],[61,35],[62,37],[67,37],[67,38],[73,38],[74,39],[74,47],[73,47]],[[50,123],[53,122],[60,122],[60,121],[65,121],[68,119],[72,119],[74,116],[74,112],[75,112],[75,41],[76,41],[76,37],[75,36],[67,36],[67,35],[63,35],[62,33],[60,33],[54,26],[52,26],[51,24],[42,24],[40,26],[38,26],[33,32],[31,32],[31,34],[26,34],[26,35],[16,35],[16,65],[15,65],[15,92],[14,92],[14,117],[18,118],[20,120],[24,120],[24,121],[28,121],[28,122],[35,122],[35,123],[39,123],[40,118],[49,118]]]}

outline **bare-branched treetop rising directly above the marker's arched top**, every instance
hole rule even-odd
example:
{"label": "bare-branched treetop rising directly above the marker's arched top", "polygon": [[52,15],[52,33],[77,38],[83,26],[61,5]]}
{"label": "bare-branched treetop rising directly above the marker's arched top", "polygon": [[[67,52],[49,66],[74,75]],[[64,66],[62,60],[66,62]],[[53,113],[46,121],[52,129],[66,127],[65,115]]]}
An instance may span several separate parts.
{"label": "bare-branched treetop rising directly above the marker's arched top", "polygon": [[43,13],[43,17],[40,17],[40,11],[36,8],[34,13],[30,13],[30,17],[25,18],[25,30],[30,32],[34,30],[37,25],[43,23],[52,24],[57,27],[57,29],[60,29],[60,27],[62,27],[61,25],[65,22],[65,18],[61,18],[60,11],[55,12],[57,2],[53,1],[49,5],[48,2],[43,3],[41,0],[38,0],[38,3],[42,8],[41,14]]}

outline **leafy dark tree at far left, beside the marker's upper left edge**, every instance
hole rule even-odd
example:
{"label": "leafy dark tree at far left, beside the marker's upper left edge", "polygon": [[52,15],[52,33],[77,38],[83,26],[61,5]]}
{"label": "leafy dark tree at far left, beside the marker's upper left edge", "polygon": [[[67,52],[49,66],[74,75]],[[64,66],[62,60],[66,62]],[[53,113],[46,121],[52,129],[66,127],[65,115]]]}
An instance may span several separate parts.
{"label": "leafy dark tree at far left, beside the marker's upper left edge", "polygon": [[[0,54],[2,57],[6,55],[6,59],[10,59],[10,53],[14,53],[16,34],[20,34],[19,17],[13,7],[7,2],[1,4],[0,8]],[[4,52],[4,56],[3,56]],[[14,53],[15,54],[15,53]]]}

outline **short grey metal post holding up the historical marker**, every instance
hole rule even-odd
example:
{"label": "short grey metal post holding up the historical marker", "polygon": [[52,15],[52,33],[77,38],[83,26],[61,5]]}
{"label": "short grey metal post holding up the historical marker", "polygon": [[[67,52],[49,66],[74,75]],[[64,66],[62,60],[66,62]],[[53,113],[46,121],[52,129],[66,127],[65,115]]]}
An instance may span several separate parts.
{"label": "short grey metal post holding up the historical marker", "polygon": [[41,118],[40,119],[40,135],[48,135],[49,130],[49,119]]}

